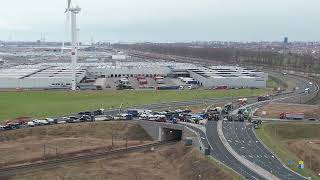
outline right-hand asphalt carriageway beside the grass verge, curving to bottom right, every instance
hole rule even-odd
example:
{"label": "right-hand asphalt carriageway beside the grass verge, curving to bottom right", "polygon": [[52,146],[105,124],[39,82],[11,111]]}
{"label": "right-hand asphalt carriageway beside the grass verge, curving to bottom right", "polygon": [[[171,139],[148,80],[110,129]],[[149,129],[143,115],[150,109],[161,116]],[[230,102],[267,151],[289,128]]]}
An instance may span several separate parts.
{"label": "right-hand asphalt carriageway beside the grass verge, curving to bottom right", "polygon": [[253,132],[253,125],[245,122],[223,122],[223,134],[231,147],[242,157],[257,164],[280,179],[299,180],[293,173],[260,143]]}

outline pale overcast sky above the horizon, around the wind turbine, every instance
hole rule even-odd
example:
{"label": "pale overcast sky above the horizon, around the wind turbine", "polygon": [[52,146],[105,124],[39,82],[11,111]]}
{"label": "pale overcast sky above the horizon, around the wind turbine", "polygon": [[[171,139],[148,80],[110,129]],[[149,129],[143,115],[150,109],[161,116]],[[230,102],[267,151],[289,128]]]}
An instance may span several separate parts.
{"label": "pale overcast sky above the horizon, around the wind turbine", "polygon": [[[0,0],[0,39],[62,40],[67,0]],[[320,0],[75,0],[80,40],[320,40]]]}

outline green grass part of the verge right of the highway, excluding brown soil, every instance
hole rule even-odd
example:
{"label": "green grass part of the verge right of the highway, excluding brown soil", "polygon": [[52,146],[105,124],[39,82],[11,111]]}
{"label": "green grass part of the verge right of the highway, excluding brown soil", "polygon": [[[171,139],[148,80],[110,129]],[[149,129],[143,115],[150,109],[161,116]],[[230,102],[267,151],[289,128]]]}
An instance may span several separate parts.
{"label": "green grass part of the verge right of the highway, excluding brown soil", "polygon": [[[262,127],[256,130],[257,135],[277,156],[282,160],[284,164],[287,164],[288,160],[292,160],[293,164],[288,166],[292,170],[299,172],[300,174],[309,177],[312,174],[312,179],[320,180],[320,177],[311,173],[308,169],[309,162],[305,160],[304,170],[298,169],[298,161],[302,158],[298,157],[298,154],[293,153],[288,149],[289,141],[299,140],[314,140],[320,138],[320,125],[317,124],[303,124],[303,123],[282,123],[282,124],[263,124]],[[310,151],[310,149],[306,149]],[[302,152],[300,152],[302,153]],[[308,154],[308,153],[307,153]],[[301,154],[300,154],[301,155]],[[316,156],[316,155],[313,155]],[[315,168],[315,167],[314,167]]]}

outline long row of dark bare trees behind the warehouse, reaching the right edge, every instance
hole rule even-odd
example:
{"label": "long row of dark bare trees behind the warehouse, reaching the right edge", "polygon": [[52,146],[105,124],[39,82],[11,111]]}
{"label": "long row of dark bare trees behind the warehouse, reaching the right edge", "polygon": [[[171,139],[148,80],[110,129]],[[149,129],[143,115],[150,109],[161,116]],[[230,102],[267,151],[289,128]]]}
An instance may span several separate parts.
{"label": "long row of dark bare trees behind the warehouse, reaching the right edge", "polygon": [[204,48],[177,44],[116,44],[115,48],[201,58],[240,65],[263,65],[306,72],[320,72],[319,59],[308,55],[280,54],[270,51],[253,51],[235,48]]}

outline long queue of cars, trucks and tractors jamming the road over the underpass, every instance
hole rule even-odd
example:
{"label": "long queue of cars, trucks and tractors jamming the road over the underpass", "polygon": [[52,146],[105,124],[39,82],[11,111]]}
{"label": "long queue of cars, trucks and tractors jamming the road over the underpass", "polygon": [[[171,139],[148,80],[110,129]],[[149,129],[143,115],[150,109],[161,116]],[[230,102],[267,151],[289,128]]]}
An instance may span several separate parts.
{"label": "long queue of cars, trucks and tractors jamming the road over the underpass", "polygon": [[[161,78],[160,78],[161,79]],[[258,101],[269,100],[270,96],[259,96]],[[94,122],[94,121],[111,121],[111,120],[146,120],[156,122],[177,123],[191,122],[196,124],[205,124],[207,121],[248,121],[254,124],[254,128],[259,128],[261,121],[252,121],[252,113],[250,108],[246,108],[247,98],[238,99],[240,108],[236,113],[231,113],[234,109],[233,103],[227,103],[223,107],[206,108],[203,112],[193,114],[191,110],[166,110],[166,111],[151,111],[146,109],[128,109],[123,113],[121,110],[119,114],[110,116],[104,114],[104,109],[97,109],[94,111],[83,111],[72,116],[61,118],[46,118],[46,119],[18,119],[15,121],[7,121],[5,125],[0,126],[0,131],[14,130],[21,127],[36,127],[53,124],[65,123],[80,123],[80,122]],[[280,119],[303,120],[304,113],[299,112],[283,112],[279,115]]]}

